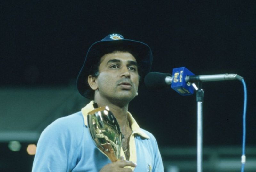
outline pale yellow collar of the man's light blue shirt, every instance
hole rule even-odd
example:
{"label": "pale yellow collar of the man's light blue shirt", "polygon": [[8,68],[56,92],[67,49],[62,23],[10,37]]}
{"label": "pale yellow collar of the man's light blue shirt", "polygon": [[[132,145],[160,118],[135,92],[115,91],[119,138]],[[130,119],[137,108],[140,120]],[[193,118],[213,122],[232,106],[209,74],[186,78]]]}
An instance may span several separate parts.
{"label": "pale yellow collar of the man's light blue shirt", "polygon": [[[94,102],[91,101],[89,104],[87,104],[81,110],[82,114],[83,114],[83,117],[84,117],[84,125],[85,126],[88,125],[88,123],[87,123],[87,114],[94,109],[93,103]],[[142,137],[144,137],[146,139],[149,139],[149,136],[140,129],[139,125],[137,124],[135,119],[132,117],[132,114],[130,112],[128,112],[127,118],[128,118],[128,120],[129,120],[129,122],[131,124],[131,128],[132,128],[132,132],[133,133],[139,134],[140,136],[142,136]]]}

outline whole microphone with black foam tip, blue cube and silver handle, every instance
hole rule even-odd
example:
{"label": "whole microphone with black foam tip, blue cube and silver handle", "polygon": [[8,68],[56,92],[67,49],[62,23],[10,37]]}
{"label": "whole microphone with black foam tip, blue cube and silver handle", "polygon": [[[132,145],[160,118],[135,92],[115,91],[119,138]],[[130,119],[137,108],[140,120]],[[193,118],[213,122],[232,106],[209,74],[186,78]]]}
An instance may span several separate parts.
{"label": "whole microphone with black foam tip, blue cube and silver handle", "polygon": [[194,75],[185,67],[174,68],[172,75],[168,73],[149,72],[144,79],[145,85],[150,89],[160,89],[172,85],[174,89],[182,96],[194,93],[191,83],[223,81],[223,80],[242,80],[243,77],[237,74],[217,74],[217,75]]}

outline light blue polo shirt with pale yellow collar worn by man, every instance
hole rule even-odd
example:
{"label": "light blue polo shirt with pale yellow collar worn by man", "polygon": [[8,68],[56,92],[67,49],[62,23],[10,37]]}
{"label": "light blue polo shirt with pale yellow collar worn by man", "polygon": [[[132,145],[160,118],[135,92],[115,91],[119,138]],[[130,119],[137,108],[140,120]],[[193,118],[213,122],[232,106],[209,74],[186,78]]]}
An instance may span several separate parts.
{"label": "light blue polo shirt with pale yellow collar worn by man", "polygon": [[[33,172],[99,172],[111,161],[95,146],[87,127],[87,113],[92,111],[93,101],[81,112],[62,117],[47,126],[36,148]],[[128,113],[132,135],[130,159],[137,167],[134,172],[164,172],[162,158],[154,136],[139,127]],[[121,156],[125,158],[124,151]]]}

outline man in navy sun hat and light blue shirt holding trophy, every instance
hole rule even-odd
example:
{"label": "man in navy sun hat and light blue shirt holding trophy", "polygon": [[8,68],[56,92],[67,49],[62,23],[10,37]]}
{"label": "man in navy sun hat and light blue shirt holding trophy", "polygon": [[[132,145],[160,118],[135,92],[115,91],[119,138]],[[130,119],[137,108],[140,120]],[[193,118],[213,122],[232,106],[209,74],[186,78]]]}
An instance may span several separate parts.
{"label": "man in navy sun hat and light blue shirt holding trophy", "polygon": [[[151,63],[148,45],[119,34],[92,44],[77,78],[78,91],[92,101],[42,132],[32,171],[163,172],[156,139],[128,112],[129,102],[138,95],[139,80]],[[117,119],[124,135],[120,161],[111,163],[91,138],[87,114],[94,102],[108,106]]]}

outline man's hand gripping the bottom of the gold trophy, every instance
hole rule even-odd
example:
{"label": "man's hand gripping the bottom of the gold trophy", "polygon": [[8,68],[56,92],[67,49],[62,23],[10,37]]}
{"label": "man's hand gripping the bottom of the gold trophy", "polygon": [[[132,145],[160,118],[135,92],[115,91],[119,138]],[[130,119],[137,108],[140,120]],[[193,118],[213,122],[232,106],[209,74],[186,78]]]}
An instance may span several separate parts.
{"label": "man's hand gripping the bottom of the gold trophy", "polygon": [[121,157],[121,161],[105,165],[100,172],[132,172],[130,168],[124,168],[125,166],[136,167],[137,164],[132,161],[125,161],[124,158]]}

